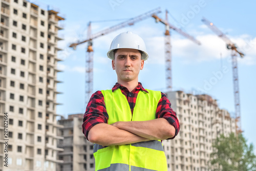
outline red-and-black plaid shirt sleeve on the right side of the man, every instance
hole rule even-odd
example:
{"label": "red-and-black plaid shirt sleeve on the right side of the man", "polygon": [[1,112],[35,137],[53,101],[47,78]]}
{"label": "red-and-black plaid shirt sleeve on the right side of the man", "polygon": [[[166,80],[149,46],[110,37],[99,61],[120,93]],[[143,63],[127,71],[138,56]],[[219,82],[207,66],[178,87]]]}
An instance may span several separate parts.
{"label": "red-and-black plaid shirt sleeve on the right side of the man", "polygon": [[174,139],[180,131],[180,123],[176,113],[170,108],[170,105],[170,101],[167,99],[166,95],[161,92],[161,99],[158,102],[156,110],[156,118],[164,118],[175,127],[175,136],[169,138]]}

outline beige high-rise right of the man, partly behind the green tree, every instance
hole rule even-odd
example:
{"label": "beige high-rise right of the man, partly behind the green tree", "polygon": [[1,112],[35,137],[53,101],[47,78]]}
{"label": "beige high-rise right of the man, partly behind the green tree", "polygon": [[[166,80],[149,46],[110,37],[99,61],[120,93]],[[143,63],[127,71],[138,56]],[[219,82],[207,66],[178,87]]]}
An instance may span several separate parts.
{"label": "beige high-rise right of the man, partly behind the green tree", "polygon": [[211,170],[212,142],[219,134],[236,132],[236,120],[208,95],[192,95],[183,91],[167,92],[180,121],[180,132],[163,146],[168,170]]}

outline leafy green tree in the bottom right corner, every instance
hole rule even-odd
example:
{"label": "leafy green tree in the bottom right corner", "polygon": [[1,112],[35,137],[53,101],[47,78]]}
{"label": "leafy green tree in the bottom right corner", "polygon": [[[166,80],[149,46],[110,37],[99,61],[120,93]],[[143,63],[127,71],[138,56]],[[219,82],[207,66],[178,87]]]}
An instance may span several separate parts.
{"label": "leafy green tree in the bottom right corner", "polygon": [[234,133],[225,137],[223,134],[212,143],[210,168],[223,171],[256,171],[256,156],[253,144],[246,144],[242,134]]}

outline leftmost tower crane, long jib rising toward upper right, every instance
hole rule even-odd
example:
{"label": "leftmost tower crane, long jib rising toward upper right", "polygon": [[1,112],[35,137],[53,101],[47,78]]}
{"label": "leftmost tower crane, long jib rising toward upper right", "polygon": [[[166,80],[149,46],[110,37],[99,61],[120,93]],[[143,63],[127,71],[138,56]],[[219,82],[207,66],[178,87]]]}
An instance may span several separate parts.
{"label": "leftmost tower crane, long jib rising toward upper right", "polygon": [[91,22],[89,22],[88,25],[88,34],[87,34],[87,39],[83,41],[78,41],[73,44],[71,44],[69,47],[73,48],[74,50],[78,45],[83,44],[84,42],[88,42],[88,47],[87,47],[87,55],[86,55],[86,96],[85,96],[85,103],[87,104],[92,91],[93,91],[93,43],[92,40],[103,36],[105,34],[111,33],[113,31],[116,31],[118,29],[127,27],[127,26],[132,26],[137,22],[140,22],[143,19],[146,19],[147,17],[151,17],[152,15],[155,15],[157,13],[160,13],[161,10],[160,8],[156,8],[154,10],[148,11],[144,14],[141,14],[139,16],[136,16],[134,18],[131,18],[129,20],[126,20],[125,22],[122,22],[120,24],[114,25],[108,29],[104,29],[100,32],[97,32],[95,34],[91,34]]}

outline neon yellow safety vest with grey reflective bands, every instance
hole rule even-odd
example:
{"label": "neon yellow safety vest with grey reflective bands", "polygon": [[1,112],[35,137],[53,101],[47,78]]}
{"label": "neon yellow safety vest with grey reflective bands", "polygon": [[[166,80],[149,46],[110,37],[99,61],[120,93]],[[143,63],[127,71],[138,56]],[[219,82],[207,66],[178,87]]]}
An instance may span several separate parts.
{"label": "neon yellow safety vest with grey reflective bands", "polygon": [[[161,92],[140,91],[133,115],[126,97],[120,89],[101,91],[104,96],[108,124],[117,121],[145,121],[156,119]],[[160,140],[127,145],[101,146],[94,144],[95,170],[150,171],[167,170],[166,157]]]}

